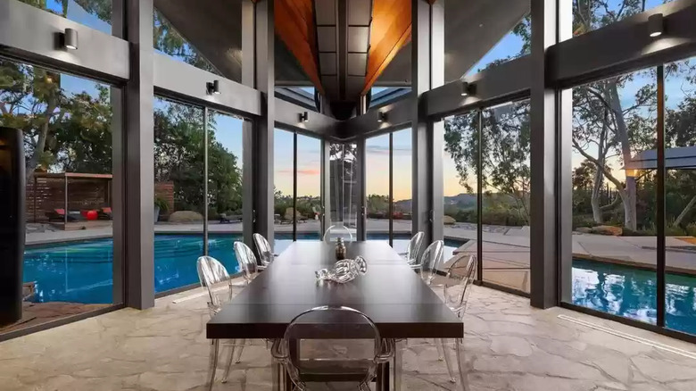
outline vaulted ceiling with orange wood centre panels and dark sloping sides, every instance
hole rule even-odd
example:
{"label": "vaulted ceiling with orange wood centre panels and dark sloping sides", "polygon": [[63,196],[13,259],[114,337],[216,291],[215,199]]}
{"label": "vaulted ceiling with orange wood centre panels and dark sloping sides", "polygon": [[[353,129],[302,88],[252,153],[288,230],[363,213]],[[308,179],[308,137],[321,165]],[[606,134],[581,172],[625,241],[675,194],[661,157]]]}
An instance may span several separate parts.
{"label": "vaulted ceiling with orange wood centre panels and dark sloping sides", "polygon": [[[411,0],[274,1],[278,86],[316,87],[339,119],[354,115],[372,86],[410,86]],[[242,0],[154,4],[223,76],[241,79]],[[529,0],[450,0],[444,7],[445,80],[452,80],[529,12]]]}

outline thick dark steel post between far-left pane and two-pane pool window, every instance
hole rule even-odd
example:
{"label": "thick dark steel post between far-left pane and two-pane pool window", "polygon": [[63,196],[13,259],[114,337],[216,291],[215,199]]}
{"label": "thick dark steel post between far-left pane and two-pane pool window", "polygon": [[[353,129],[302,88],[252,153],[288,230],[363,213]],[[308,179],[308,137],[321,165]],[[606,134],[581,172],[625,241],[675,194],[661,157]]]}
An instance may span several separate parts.
{"label": "thick dark steel post between far-left pane and two-pane pool window", "polygon": [[126,305],[142,310],[154,306],[153,0],[128,0],[126,6],[131,75],[126,89]]}

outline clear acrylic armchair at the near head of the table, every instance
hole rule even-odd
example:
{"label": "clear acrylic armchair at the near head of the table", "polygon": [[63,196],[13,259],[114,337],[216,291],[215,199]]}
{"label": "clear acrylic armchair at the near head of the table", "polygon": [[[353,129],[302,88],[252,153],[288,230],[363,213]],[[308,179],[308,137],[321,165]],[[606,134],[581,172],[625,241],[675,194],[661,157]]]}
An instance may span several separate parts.
{"label": "clear acrylic armchair at the near head of the table", "polygon": [[[364,313],[348,307],[322,306],[297,315],[271,353],[299,391],[340,382],[369,390],[377,366],[394,352]],[[323,387],[321,389],[324,389]]]}

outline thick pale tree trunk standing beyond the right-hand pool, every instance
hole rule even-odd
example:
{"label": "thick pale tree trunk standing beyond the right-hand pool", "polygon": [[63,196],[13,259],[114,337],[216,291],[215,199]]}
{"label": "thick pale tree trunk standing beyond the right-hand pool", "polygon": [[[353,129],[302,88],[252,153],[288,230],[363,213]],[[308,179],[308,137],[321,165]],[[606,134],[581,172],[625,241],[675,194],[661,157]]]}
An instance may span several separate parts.
{"label": "thick pale tree trunk standing beyond the right-hand pool", "polygon": [[[614,116],[617,120],[617,138],[621,143],[621,154],[624,158],[624,165],[633,160],[631,154],[631,142],[628,139],[628,128],[624,120],[624,112],[621,109],[621,101],[618,98],[617,79],[611,79],[607,82],[609,89],[609,104]],[[626,197],[622,196],[624,201],[624,226],[627,229],[637,229],[637,212],[635,209],[636,200],[636,180],[635,177],[626,176]]]}

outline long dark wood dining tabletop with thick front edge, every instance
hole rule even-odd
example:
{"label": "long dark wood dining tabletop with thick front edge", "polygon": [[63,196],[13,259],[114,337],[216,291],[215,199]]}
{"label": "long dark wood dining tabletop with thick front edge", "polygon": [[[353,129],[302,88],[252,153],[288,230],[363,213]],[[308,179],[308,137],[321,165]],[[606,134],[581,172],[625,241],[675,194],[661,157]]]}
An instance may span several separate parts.
{"label": "long dark wood dining tabletop with thick front edge", "polygon": [[317,281],[316,270],[336,262],[335,245],[298,241],[280,254],[207,325],[208,338],[280,338],[296,315],[320,305],[365,313],[381,337],[463,337],[464,328],[386,242],[346,244],[368,272],[345,284]]}

